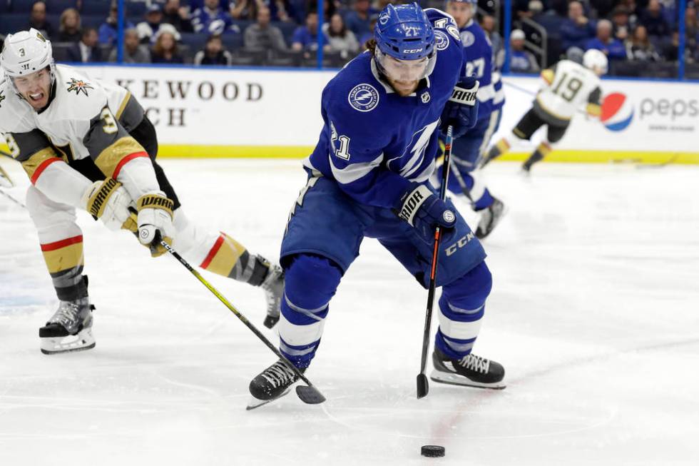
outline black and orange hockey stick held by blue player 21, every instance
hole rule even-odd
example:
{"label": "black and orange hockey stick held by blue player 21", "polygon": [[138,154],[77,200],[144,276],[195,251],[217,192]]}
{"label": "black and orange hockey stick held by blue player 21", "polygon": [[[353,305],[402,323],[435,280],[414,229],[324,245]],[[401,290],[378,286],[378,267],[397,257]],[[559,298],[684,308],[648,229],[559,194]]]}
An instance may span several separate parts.
{"label": "black and orange hockey stick held by blue player 21", "polygon": [[[451,126],[447,128],[447,139],[444,141],[444,169],[442,170],[442,186],[439,188],[439,198],[447,200],[447,182],[449,181],[449,166],[451,165]],[[425,368],[427,367],[427,349],[429,347],[429,328],[432,325],[432,305],[434,304],[435,277],[437,276],[437,258],[439,257],[439,240],[442,239],[442,228],[439,225],[434,228],[434,248],[432,249],[432,268],[429,273],[429,286],[427,288],[427,312],[424,318],[424,333],[422,334],[422,361],[420,373],[417,375],[417,397],[422,398],[429,392],[429,383]]]}

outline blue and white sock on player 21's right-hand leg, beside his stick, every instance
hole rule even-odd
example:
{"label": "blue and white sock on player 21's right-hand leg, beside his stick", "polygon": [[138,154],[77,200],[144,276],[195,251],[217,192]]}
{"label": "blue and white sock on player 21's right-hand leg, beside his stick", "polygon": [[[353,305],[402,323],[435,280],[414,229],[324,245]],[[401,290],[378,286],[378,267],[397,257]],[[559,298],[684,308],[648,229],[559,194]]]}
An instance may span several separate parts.
{"label": "blue and white sock on player 21's right-hand leg, beside his stick", "polygon": [[491,274],[484,262],[444,286],[439,298],[439,330],[434,341],[444,355],[461,359],[471,353],[491,286]]}

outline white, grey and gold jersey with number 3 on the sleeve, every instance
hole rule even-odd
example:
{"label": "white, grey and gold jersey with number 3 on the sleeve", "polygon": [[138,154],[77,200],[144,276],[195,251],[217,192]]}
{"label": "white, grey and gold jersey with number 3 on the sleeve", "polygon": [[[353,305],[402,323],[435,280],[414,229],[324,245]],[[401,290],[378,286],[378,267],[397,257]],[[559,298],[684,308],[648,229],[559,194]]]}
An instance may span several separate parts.
{"label": "white, grey and gold jersey with number 3 on the sleeve", "polygon": [[[41,112],[18,96],[11,83],[0,83],[0,133],[12,156],[36,188],[72,206],[78,206],[91,181],[69,164],[88,157],[105,177],[121,181],[133,198],[158,191],[148,153],[128,133],[143,114],[125,88],[93,80],[70,66],[56,66],[51,99]],[[126,176],[126,163],[136,158],[145,160],[134,163]]]}

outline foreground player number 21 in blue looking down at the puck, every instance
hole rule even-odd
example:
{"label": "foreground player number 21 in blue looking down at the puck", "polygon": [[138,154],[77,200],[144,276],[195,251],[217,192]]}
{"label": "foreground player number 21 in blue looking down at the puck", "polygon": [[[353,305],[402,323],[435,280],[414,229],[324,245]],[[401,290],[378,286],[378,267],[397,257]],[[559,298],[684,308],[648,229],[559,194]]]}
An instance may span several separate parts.
{"label": "foreground player number 21 in blue looking down at the puck", "polygon": [[[328,303],[364,237],[377,238],[427,288],[439,225],[449,233],[439,250],[432,380],[503,388],[504,368],[471,354],[491,290],[486,254],[451,201],[427,182],[440,116],[457,134],[476,121],[475,78],[459,81],[459,31],[442,11],[388,5],[367,45],[322,93],[325,126],[304,162],[309,178],[282,240],[280,351],[301,370],[310,365]],[[296,380],[277,361],[250,383],[253,405],[283,395]]]}

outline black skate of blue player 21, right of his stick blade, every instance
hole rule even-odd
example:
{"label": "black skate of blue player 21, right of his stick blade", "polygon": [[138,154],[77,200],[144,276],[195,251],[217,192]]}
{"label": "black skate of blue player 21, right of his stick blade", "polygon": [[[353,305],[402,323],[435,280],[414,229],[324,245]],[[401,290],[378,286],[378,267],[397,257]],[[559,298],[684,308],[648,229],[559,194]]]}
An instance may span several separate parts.
{"label": "black skate of blue player 21, right of his stick blade", "polygon": [[429,378],[435,382],[478,388],[506,387],[503,382],[505,369],[502,365],[480,356],[467,355],[461,359],[451,359],[434,348],[432,363],[434,370]]}

